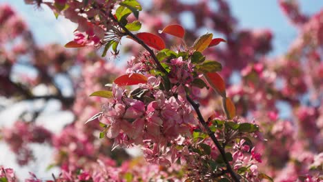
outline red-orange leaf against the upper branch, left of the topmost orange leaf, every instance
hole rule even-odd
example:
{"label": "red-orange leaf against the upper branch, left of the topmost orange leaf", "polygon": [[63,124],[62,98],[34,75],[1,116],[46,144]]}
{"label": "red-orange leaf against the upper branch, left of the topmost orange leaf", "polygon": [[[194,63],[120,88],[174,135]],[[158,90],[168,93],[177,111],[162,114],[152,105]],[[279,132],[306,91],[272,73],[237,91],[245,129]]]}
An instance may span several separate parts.
{"label": "red-orange leaf against the upper branch, left of the topmost orange leaf", "polygon": [[157,50],[163,50],[166,47],[164,40],[155,34],[141,32],[137,34],[137,37],[141,39],[141,41],[144,41],[148,46]]}

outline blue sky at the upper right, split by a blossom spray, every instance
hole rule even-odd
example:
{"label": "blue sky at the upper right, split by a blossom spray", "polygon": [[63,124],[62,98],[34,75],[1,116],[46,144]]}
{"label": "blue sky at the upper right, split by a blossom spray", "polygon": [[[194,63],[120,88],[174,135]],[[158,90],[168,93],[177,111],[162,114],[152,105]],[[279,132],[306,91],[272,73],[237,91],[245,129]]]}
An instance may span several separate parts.
{"label": "blue sky at the upper right, split by a blossom spray", "polygon": [[[313,14],[323,8],[323,1],[300,0],[301,11]],[[241,28],[270,28],[274,33],[274,55],[286,52],[289,44],[297,35],[295,27],[278,6],[276,0],[230,0],[231,10],[239,20]]]}

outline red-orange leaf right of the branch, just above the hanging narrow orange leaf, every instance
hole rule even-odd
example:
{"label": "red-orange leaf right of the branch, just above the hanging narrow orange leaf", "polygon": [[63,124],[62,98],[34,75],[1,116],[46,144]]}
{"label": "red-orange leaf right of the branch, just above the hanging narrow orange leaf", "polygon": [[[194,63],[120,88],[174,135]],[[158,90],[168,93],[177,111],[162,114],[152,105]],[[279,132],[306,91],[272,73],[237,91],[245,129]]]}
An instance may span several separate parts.
{"label": "red-orange leaf right of the branch, just above the hanging narrow orange leaf", "polygon": [[215,90],[222,97],[226,97],[226,83],[217,72],[207,72],[204,77],[210,84],[211,88]]}

